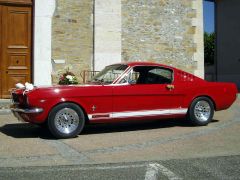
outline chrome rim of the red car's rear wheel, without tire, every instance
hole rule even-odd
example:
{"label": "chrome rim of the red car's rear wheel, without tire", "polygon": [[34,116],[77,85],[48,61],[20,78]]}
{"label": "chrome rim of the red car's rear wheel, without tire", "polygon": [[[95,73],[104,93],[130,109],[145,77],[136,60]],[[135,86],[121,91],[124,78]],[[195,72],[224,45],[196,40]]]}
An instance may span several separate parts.
{"label": "chrome rim of the red car's rear wheel, without tire", "polygon": [[211,107],[207,101],[198,101],[194,107],[194,115],[198,121],[206,122],[211,115]]}

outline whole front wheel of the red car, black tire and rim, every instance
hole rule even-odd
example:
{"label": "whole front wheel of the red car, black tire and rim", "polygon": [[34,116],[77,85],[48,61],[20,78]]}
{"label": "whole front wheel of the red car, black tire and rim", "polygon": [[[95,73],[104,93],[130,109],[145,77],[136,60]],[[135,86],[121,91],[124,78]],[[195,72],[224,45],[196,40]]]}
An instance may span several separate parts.
{"label": "whole front wheel of the red car, black tire and rim", "polygon": [[85,116],[83,110],[74,103],[55,106],[48,116],[48,128],[56,138],[73,138],[83,130]]}

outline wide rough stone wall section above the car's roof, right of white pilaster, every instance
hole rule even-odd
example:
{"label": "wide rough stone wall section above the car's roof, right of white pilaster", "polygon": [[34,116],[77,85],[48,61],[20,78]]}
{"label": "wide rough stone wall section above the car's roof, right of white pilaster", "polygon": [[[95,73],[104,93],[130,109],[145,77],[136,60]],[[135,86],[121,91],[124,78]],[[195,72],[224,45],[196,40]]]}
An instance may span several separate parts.
{"label": "wide rough stone wall section above the car's roof, right of white pilaster", "polygon": [[194,1],[201,0],[122,0],[122,60],[160,62],[191,73],[199,69],[203,59],[194,54],[203,36],[195,42]]}

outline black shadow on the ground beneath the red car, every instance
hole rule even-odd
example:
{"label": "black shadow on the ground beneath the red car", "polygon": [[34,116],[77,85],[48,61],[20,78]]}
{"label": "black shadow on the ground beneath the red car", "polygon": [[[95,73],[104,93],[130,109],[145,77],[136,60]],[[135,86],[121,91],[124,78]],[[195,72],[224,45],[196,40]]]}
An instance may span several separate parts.
{"label": "black shadow on the ground beneath the red car", "polygon": [[[219,120],[212,120],[217,123]],[[185,119],[166,119],[154,121],[133,121],[122,123],[94,124],[86,125],[82,135],[117,133],[150,129],[162,129],[171,127],[194,127]],[[46,127],[40,127],[29,123],[6,124],[0,127],[0,132],[14,138],[41,138],[55,139]]]}

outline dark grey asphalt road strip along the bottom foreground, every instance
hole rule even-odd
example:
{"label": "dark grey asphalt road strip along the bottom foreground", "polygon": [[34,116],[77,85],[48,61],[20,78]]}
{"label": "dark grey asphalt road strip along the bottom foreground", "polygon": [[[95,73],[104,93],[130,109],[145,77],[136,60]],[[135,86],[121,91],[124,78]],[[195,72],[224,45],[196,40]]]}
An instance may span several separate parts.
{"label": "dark grey asphalt road strip along the bottom foreground", "polygon": [[0,168],[0,179],[240,179],[240,156],[127,164]]}

